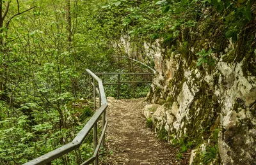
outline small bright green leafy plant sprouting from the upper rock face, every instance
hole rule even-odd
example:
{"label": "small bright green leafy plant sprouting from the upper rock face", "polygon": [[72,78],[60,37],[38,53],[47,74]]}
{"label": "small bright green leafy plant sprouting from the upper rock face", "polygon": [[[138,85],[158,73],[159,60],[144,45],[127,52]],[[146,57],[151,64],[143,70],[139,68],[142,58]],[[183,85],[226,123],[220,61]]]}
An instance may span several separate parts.
{"label": "small bright green leafy plant sprouting from the upper rock face", "polygon": [[201,50],[201,52],[198,52],[196,55],[199,55],[199,59],[196,66],[201,66],[204,63],[208,64],[209,66],[214,66],[215,61],[211,57],[212,53],[212,49],[206,52],[204,48]]}

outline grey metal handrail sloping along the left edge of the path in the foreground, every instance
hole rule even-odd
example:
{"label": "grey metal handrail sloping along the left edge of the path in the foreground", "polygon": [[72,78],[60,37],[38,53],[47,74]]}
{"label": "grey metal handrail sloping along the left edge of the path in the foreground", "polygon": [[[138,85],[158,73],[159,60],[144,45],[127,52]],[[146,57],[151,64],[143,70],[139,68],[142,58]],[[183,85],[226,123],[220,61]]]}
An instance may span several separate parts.
{"label": "grey metal handrail sloping along the left edge of the path in the foreground", "polygon": [[[100,78],[98,76],[96,76],[94,73],[92,73],[92,71],[90,71],[89,69],[86,69],[86,71],[88,72],[89,75],[91,75],[93,77],[94,103],[96,103],[95,80],[98,82],[99,104],[100,104],[99,109],[97,111],[95,111],[92,118],[90,118],[90,120],[86,123],[86,125],[83,127],[83,129],[81,129],[81,131],[77,134],[77,136],[74,138],[74,140],[71,143],[68,143],[67,145],[63,145],[62,147],[57,148],[51,152],[48,152],[47,154],[42,155],[36,159],[33,159],[32,161],[26,162],[23,165],[33,165],[33,164],[38,164],[38,165],[47,164],[48,165],[48,164],[51,164],[51,162],[54,161],[54,159],[57,159],[58,157],[61,157],[62,155],[65,155],[65,154],[75,150],[76,148],[79,148],[80,145],[83,143],[84,138],[86,138],[86,136],[90,133],[92,128],[93,128],[94,154],[92,157],[90,157],[90,159],[83,162],[82,164],[89,164],[93,161],[94,161],[95,165],[97,165],[99,163],[98,162],[98,152],[99,152],[100,145],[102,145],[102,147],[104,147],[104,139],[105,139],[104,136],[105,136],[106,127],[107,127],[107,123],[108,123],[106,120],[106,108],[108,107],[108,102],[107,102],[106,95],[104,92],[104,87],[103,87],[103,84],[102,84],[102,81],[100,80]],[[102,115],[102,133],[100,134],[100,139],[99,139],[99,143],[98,143],[97,121],[99,120],[101,115]]]}

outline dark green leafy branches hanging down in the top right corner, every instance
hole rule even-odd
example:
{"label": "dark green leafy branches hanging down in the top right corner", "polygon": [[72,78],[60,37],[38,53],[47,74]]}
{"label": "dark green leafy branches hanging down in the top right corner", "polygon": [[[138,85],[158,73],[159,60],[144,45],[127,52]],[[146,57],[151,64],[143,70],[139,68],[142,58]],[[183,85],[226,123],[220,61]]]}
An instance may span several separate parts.
{"label": "dark green leafy branches hanging down in the top right corner", "polygon": [[[213,7],[217,13],[220,13],[225,24],[225,37],[232,38],[237,41],[237,35],[241,32],[244,25],[253,20],[252,18],[252,5],[254,0],[249,1],[218,1],[218,0],[205,0],[205,1],[158,1],[156,4],[161,6],[163,13],[172,12],[173,15],[182,13],[186,15],[193,7],[205,8]],[[184,14],[185,13],[185,14]],[[189,15],[200,15],[200,11],[195,10]],[[204,14],[204,17],[209,17]],[[211,17],[209,17],[211,18]]]}

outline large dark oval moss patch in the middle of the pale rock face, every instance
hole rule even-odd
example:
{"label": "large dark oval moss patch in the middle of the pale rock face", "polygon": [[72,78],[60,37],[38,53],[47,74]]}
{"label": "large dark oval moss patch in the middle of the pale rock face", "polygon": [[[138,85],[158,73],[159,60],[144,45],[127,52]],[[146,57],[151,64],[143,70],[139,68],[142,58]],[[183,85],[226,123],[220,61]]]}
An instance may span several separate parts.
{"label": "large dark oval moss patch in the middle of the pale rock face", "polygon": [[[189,106],[189,119],[185,122],[187,134],[199,145],[211,136],[211,127],[220,113],[218,98],[209,90],[209,85],[202,82],[200,90],[196,92],[193,103]],[[202,140],[204,137],[204,140]]]}

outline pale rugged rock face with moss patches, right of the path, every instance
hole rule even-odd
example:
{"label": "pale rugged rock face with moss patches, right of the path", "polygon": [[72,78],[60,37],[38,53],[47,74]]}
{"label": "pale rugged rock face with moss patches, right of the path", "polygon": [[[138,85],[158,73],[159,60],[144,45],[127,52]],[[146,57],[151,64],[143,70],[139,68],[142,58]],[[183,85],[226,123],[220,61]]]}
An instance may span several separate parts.
{"label": "pale rugged rock face with moss patches, right of the path", "polygon": [[[248,63],[255,66],[256,50],[250,61],[227,62],[233,51],[228,45],[224,53],[212,54],[214,66],[199,67],[182,54],[155,55],[148,99],[159,106],[143,114],[171,143],[193,143],[190,164],[256,164],[256,77],[244,70]],[[211,148],[216,156],[207,158]]]}

